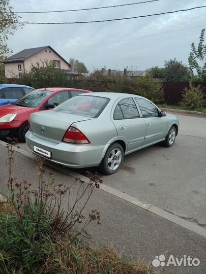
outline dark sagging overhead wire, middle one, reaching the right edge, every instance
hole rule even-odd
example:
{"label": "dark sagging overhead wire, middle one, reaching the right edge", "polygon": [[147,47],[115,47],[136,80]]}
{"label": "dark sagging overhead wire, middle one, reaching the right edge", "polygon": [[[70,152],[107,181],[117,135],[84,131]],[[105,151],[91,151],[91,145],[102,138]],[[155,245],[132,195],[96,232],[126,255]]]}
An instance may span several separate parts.
{"label": "dark sagging overhead wire, middle one, reaching the right edge", "polygon": [[[134,17],[126,17],[126,18],[117,18],[117,19],[108,19],[108,20],[98,20],[98,21],[80,21],[80,22],[14,22],[16,24],[83,24],[83,23],[99,23],[99,22],[111,22],[111,21],[120,21],[120,20],[127,20],[127,19],[135,19],[135,18],[143,18],[143,17],[150,17],[150,16],[157,16],[157,15],[163,15],[163,14],[171,14],[176,12],[183,12],[183,11],[191,11],[195,9],[201,9],[205,8],[206,6],[199,6],[194,7],[190,9],[184,9],[184,10],[176,10],[171,12],[162,12],[162,13],[156,13],[156,14],[149,14],[149,15],[140,15],[140,16],[134,16]],[[0,20],[1,21],[1,20]]]}

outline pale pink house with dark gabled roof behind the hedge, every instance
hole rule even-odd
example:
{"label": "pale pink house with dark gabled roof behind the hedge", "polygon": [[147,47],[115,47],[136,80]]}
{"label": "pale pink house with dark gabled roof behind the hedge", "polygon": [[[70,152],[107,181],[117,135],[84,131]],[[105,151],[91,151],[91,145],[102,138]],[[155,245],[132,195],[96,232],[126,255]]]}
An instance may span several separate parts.
{"label": "pale pink house with dark gabled roof behind the hedge", "polygon": [[11,79],[21,78],[22,73],[31,71],[32,65],[37,64],[37,62],[39,65],[43,65],[45,61],[52,61],[56,68],[66,72],[71,70],[71,65],[50,46],[24,49],[2,61],[2,63],[5,66],[6,78]]}

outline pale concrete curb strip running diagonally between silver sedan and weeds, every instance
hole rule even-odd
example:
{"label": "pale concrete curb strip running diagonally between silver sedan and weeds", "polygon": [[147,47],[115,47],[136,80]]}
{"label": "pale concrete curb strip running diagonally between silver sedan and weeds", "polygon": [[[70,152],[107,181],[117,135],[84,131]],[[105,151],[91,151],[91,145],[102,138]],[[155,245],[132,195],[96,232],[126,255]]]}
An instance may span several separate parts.
{"label": "pale concrete curb strip running diagonally between silver sedan and weeds", "polygon": [[[0,140],[0,145],[3,145],[4,147],[6,147],[8,145],[8,143],[6,142],[3,142]],[[14,146],[14,150],[17,151],[18,153],[21,153],[29,158],[32,158],[32,159],[35,159],[37,156],[30,153],[30,152],[27,152],[21,148],[18,148],[16,146]],[[65,168],[61,165],[57,165],[55,163],[52,163],[52,162],[49,162],[49,161],[45,161],[44,164],[48,167],[51,167],[52,169],[56,170],[57,172],[61,172],[61,173],[64,173],[66,175],[69,175],[70,177],[72,178],[79,178],[81,179],[82,181],[84,181],[85,183],[88,183],[88,178],[83,176],[83,175],[80,175],[76,172],[73,172],[72,170],[69,170],[68,168]],[[142,202],[138,199],[136,199],[135,197],[132,197],[131,195],[127,194],[127,193],[124,193],[120,190],[116,190],[112,187],[109,187],[107,185],[104,185],[104,184],[100,184],[100,189],[102,191],[105,191],[111,195],[114,195],[115,197],[118,197],[118,198],[121,198],[127,202],[130,202],[134,205],[136,205],[137,207],[141,208],[141,209],[144,209],[146,211],[149,211],[151,213],[154,213],[156,214],[157,216],[159,217],[162,217],[176,225],[179,225],[179,226],[182,226],[192,232],[195,232],[203,237],[206,237],[206,229],[195,224],[195,223],[192,223],[192,222],[189,222],[187,220],[184,220],[178,216],[175,216],[169,212],[166,212],[162,209],[159,209],[157,207],[155,207],[155,205],[153,204],[150,204],[150,203],[145,203],[145,202]]]}

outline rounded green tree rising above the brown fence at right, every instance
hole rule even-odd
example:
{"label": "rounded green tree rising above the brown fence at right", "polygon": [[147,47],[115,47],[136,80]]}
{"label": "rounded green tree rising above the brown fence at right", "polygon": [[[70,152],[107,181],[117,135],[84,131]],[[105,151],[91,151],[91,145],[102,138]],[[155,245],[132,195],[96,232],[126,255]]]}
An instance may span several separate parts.
{"label": "rounded green tree rising above the brown fence at right", "polygon": [[188,82],[192,75],[189,73],[187,66],[176,58],[170,59],[164,63],[165,81],[171,82]]}

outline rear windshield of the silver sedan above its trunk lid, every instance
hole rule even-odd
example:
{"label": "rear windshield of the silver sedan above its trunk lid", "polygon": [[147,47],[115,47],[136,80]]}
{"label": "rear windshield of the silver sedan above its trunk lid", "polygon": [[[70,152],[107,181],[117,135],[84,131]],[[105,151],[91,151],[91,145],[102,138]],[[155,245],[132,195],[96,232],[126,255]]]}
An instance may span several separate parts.
{"label": "rear windshield of the silver sedan above its trunk lid", "polygon": [[108,102],[109,99],[104,97],[78,95],[56,107],[53,111],[96,118]]}

